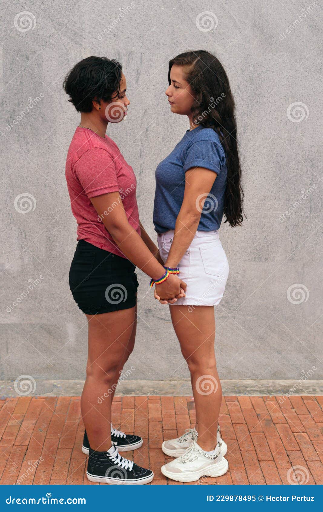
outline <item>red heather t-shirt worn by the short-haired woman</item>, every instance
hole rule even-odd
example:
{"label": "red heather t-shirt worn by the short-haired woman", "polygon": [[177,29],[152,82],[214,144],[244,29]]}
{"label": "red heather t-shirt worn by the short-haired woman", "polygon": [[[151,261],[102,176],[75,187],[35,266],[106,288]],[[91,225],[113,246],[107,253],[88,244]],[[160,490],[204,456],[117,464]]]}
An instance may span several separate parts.
{"label": "red heather t-shirt worn by the short-haired woman", "polygon": [[77,126],[67,154],[65,176],[77,222],[76,240],[126,258],[89,199],[119,191],[128,222],[140,235],[136,176],[117,144],[107,135],[103,139],[92,130]]}

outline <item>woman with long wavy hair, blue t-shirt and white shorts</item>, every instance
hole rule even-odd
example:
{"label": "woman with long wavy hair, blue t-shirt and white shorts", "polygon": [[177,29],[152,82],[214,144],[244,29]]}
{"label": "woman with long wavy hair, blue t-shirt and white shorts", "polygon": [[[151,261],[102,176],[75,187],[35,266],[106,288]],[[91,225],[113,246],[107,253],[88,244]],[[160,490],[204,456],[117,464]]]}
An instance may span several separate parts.
{"label": "woman with long wavy hair, blue t-shirt and white shorts", "polygon": [[[190,128],[156,169],[154,224],[164,265],[187,285],[185,297],[169,308],[190,371],[196,426],[163,442],[163,452],[175,459],[161,470],[191,482],[228,470],[218,424],[214,306],[229,274],[220,225],[223,215],[231,227],[242,224],[243,191],[234,100],[221,62],[204,50],[182,53],[169,61],[168,83],[170,110],[186,115]],[[158,290],[155,298],[167,304]]]}

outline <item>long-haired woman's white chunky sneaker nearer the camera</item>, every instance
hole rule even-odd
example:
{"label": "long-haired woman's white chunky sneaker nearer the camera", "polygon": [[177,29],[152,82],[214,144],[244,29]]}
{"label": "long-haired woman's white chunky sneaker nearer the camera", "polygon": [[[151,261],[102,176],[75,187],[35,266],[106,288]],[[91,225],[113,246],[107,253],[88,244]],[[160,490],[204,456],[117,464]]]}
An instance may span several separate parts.
{"label": "long-haired woman's white chunky sneaker nearer the camera", "polygon": [[204,452],[195,440],[183,455],[164,464],[161,472],[177,482],[195,482],[203,476],[220,477],[228,468],[228,461],[221,454],[220,443],[214,455],[211,455]]}

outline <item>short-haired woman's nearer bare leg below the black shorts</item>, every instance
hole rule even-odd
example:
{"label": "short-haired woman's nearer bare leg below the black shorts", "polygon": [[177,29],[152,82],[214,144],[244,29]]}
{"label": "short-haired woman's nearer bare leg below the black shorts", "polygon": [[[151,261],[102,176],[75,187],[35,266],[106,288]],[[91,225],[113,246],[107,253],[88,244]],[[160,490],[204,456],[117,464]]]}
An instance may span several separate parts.
{"label": "short-haired woman's nearer bare leg below the black shorts", "polygon": [[102,452],[111,447],[112,385],[133,333],[135,307],[86,316],[89,348],[81,414],[91,448]]}

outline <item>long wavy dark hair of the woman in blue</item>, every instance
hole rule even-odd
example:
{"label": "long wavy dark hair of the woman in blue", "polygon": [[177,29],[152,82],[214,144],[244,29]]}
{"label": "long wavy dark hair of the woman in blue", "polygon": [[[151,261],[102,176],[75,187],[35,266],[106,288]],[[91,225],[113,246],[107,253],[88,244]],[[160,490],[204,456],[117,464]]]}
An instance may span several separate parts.
{"label": "long wavy dark hair of the woman in blue", "polygon": [[[223,214],[231,227],[242,225],[244,193],[236,138],[234,99],[220,60],[205,50],[181,53],[169,61],[168,83],[173,64],[184,67],[185,80],[195,96],[192,120],[217,132],[227,163],[227,185]],[[215,103],[215,104],[214,104]]]}

